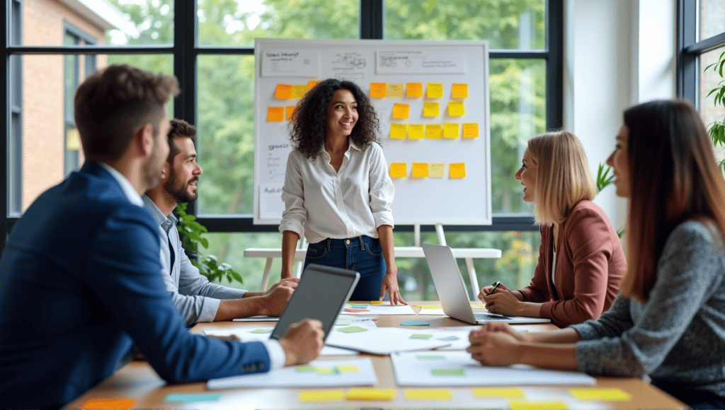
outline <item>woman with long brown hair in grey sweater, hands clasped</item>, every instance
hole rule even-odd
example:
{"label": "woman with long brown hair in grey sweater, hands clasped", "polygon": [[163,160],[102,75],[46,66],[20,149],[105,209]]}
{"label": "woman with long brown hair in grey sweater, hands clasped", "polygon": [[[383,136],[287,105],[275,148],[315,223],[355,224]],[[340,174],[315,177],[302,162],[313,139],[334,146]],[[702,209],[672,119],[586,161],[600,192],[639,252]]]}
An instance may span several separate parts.
{"label": "woman with long brown hair in grey sweater, hands clasped", "polygon": [[616,148],[629,198],[627,272],[597,320],[552,332],[489,324],[474,359],[591,375],[641,377],[695,409],[725,408],[725,181],[697,111],[685,101],[627,109]]}

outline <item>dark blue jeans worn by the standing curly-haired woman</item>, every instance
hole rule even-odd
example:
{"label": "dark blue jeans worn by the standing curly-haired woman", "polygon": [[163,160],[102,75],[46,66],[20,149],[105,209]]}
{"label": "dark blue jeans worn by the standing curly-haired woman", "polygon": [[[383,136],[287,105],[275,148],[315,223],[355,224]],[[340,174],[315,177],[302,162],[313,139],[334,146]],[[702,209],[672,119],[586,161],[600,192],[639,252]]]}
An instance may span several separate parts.
{"label": "dark blue jeans worn by the standing curly-haired woman", "polygon": [[377,301],[385,277],[385,259],[380,240],[362,235],[349,239],[325,239],[307,246],[308,264],[352,269],[360,272],[360,280],[350,296],[351,301]]}

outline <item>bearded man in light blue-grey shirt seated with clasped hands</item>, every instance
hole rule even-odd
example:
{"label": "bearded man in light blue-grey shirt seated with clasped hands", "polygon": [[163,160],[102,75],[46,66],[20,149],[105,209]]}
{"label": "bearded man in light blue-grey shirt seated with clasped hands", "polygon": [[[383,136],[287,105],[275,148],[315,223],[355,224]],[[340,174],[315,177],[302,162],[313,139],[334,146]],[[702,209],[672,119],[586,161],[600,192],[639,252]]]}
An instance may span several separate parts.
{"label": "bearded man in light blue-grey shirt seated with clasped hands", "polygon": [[297,288],[299,279],[282,280],[267,292],[227,288],[210,283],[189,261],[181,247],[172,211],[179,203],[195,201],[202,167],[196,162],[196,128],[184,120],[171,120],[167,135],[169,156],[161,183],[146,191],[144,206],[159,224],[164,284],[187,326],[237,317],[279,316]]}

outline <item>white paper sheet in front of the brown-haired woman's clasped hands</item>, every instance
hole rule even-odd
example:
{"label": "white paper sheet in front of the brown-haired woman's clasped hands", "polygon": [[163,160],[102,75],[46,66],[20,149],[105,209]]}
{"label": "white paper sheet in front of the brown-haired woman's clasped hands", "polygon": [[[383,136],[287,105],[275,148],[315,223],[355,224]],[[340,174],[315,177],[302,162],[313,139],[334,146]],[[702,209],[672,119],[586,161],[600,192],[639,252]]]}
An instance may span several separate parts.
{"label": "white paper sheet in front of the brown-haired woman's clasped hands", "polygon": [[[581,372],[537,369],[521,364],[512,367],[484,367],[478,361],[471,359],[471,353],[465,351],[394,353],[390,359],[399,386],[595,385],[597,383],[594,377]],[[435,372],[439,372],[439,375],[434,375]]]}

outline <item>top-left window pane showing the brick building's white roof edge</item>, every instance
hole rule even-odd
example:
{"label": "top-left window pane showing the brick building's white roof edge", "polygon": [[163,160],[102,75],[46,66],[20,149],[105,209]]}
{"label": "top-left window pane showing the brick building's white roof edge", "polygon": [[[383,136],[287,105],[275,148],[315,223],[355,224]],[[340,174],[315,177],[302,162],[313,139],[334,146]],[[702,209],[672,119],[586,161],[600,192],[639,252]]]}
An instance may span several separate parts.
{"label": "top-left window pane showing the brick building's white roof edge", "polygon": [[67,27],[83,38],[81,43],[173,43],[173,0],[23,1],[20,9],[25,46],[67,44]]}

